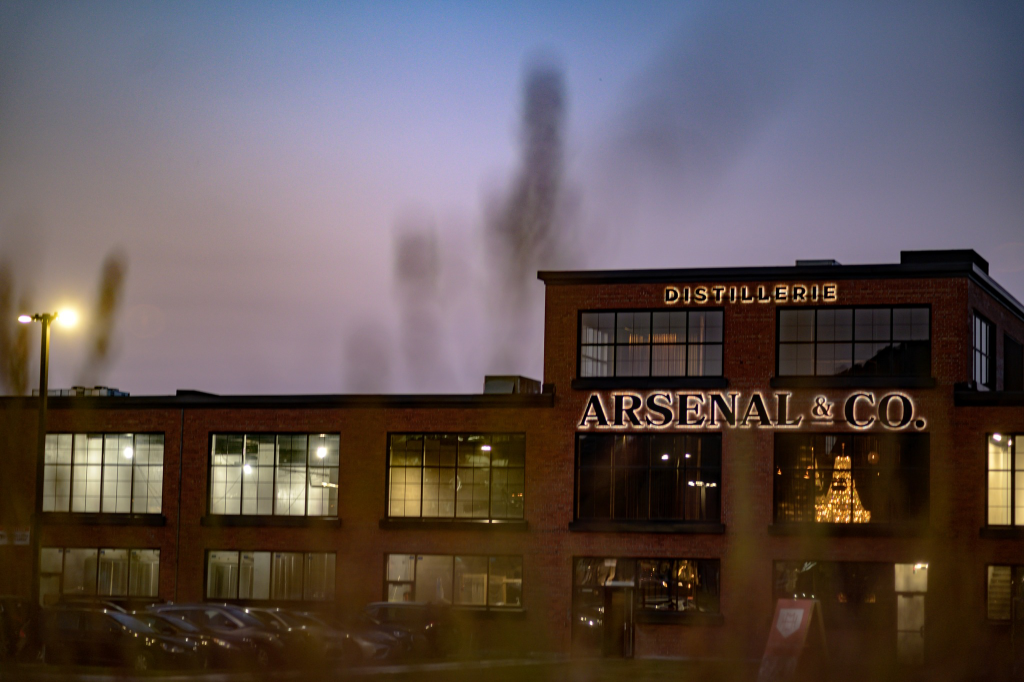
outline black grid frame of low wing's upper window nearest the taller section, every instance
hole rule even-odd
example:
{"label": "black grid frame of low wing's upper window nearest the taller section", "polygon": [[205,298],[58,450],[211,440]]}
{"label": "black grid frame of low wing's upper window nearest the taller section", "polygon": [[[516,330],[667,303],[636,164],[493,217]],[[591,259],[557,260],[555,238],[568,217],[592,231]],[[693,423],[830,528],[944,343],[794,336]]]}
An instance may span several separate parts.
{"label": "black grid frame of low wing's upper window nearest the taller section", "polygon": [[[421,436],[422,437],[424,445],[423,445],[423,450],[421,451],[420,464],[419,464],[418,467],[415,466],[415,465],[392,465],[391,464],[392,439],[394,437],[396,437],[396,436],[404,436],[407,439],[410,436]],[[489,458],[488,458],[488,463],[487,463],[487,467],[486,467],[486,469],[487,469],[487,489],[488,489],[488,495],[487,495],[487,515],[486,516],[460,516],[459,515],[458,487],[456,489],[456,496],[453,498],[453,502],[452,502],[452,515],[451,516],[440,516],[440,515],[438,515],[438,516],[424,516],[423,515],[423,503],[424,503],[424,500],[425,500],[423,493],[424,493],[424,485],[425,485],[425,479],[426,479],[426,476],[424,475],[425,471],[427,469],[449,468],[449,467],[428,466],[427,465],[427,462],[426,462],[426,445],[425,445],[425,443],[426,443],[426,437],[427,436],[452,437],[452,438],[456,438],[458,442],[462,442],[461,440],[458,440],[460,438],[476,438],[476,437],[494,438],[495,436],[510,436],[510,437],[511,436],[519,436],[521,438],[521,440],[522,440],[522,465],[521,466],[495,467],[490,463]],[[407,440],[407,442],[408,442],[408,440]],[[493,441],[490,441],[490,442],[493,442]],[[488,452],[493,452],[493,451],[488,451]],[[460,453],[459,453],[459,450],[458,450],[458,446],[457,446],[456,456],[455,456],[455,462],[453,463],[452,467],[450,467],[450,468],[452,468],[452,469],[455,470],[455,472],[456,472],[455,475],[457,477],[457,480],[458,480],[458,475],[459,475],[458,472],[459,472],[460,468],[462,468],[462,469],[479,469],[479,468],[482,468],[482,467],[468,467],[468,466],[460,467],[459,456],[460,456]],[[446,431],[444,431],[444,432],[441,432],[441,431],[437,431],[437,432],[433,432],[433,431],[389,431],[387,433],[387,438],[386,438],[386,452],[385,452],[384,467],[385,467],[385,472],[384,472],[384,518],[386,519],[386,521],[388,521],[390,523],[402,523],[402,522],[411,522],[411,523],[434,523],[434,522],[437,522],[437,523],[484,523],[484,522],[487,522],[487,523],[514,523],[514,522],[522,522],[526,518],[526,433],[525,433],[525,431],[490,431],[490,432],[485,432],[485,431],[466,431],[466,432],[455,432],[455,431],[453,431],[453,432],[446,432]],[[392,469],[395,469],[395,468],[418,469],[419,472],[420,472],[420,497],[419,497],[420,510],[419,510],[419,514],[416,515],[416,516],[412,516],[412,515],[400,515],[399,516],[399,515],[392,515],[392,513],[391,513],[391,503],[392,503],[392,500],[391,500],[391,485],[392,485],[391,476],[392,476]],[[499,470],[499,471],[505,471],[505,472],[513,471],[513,470],[514,471],[521,471],[522,472],[522,503],[521,503],[521,513],[519,515],[517,515],[517,516],[495,516],[495,514],[494,514],[494,499],[493,499],[493,496],[492,496],[492,492],[494,491],[493,482],[494,482],[494,479],[495,479],[495,470],[496,469]]]}

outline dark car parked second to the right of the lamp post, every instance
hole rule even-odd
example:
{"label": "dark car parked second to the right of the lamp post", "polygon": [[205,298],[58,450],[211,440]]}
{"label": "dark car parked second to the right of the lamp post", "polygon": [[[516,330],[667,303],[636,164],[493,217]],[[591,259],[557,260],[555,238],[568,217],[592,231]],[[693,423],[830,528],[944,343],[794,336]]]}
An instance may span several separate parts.
{"label": "dark car parked second to the right of the lamp post", "polygon": [[270,664],[288,663],[288,651],[281,637],[237,607],[224,604],[154,604],[145,610],[180,619],[206,634],[238,644],[247,652],[252,667],[262,669]]}

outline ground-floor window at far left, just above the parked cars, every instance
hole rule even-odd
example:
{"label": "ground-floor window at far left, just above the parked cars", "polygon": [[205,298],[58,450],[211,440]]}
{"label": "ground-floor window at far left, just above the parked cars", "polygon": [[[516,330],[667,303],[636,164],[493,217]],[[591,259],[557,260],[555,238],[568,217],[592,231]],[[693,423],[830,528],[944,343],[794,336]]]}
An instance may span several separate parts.
{"label": "ground-floor window at far left, just above the parked cars", "polygon": [[39,574],[44,604],[60,595],[156,597],[160,550],[43,547]]}

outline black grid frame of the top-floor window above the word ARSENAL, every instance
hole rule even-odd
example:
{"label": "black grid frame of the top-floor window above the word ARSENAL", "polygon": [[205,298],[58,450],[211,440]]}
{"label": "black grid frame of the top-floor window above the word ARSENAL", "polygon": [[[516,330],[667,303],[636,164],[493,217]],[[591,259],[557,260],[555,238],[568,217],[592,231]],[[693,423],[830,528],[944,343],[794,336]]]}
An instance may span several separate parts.
{"label": "black grid frame of the top-floor window above the word ARSENAL", "polygon": [[[655,343],[654,342],[654,338],[653,338],[654,337],[654,334],[653,334],[653,313],[655,313],[655,312],[685,312],[686,313],[686,329],[683,331],[683,339],[684,340],[683,340],[682,343]],[[722,340],[721,341],[702,341],[702,342],[701,341],[698,341],[698,342],[691,342],[691,341],[689,341],[689,325],[690,325],[690,322],[689,322],[690,321],[690,316],[689,315],[690,315],[691,312],[718,312],[718,313],[720,313],[722,315]],[[584,317],[584,315],[585,314],[609,314],[609,313],[615,315],[615,317],[614,317],[615,322],[613,324],[613,330],[614,331],[613,331],[613,336],[612,336],[611,341],[608,342],[608,343],[599,343],[599,344],[598,343],[584,343],[584,339],[583,339],[583,329],[584,329],[584,327],[583,327],[583,317]],[[650,324],[648,325],[648,335],[647,335],[648,336],[648,340],[647,340],[647,342],[645,344],[640,344],[640,343],[637,343],[637,344],[618,343],[618,341],[614,338],[614,335],[617,334],[617,329],[618,329],[618,315],[620,314],[626,314],[626,313],[628,313],[628,314],[641,313],[641,314],[647,314],[647,315],[649,315],[648,321],[649,321]],[[721,378],[725,377],[725,339],[726,339],[726,323],[725,323],[725,317],[726,317],[726,315],[725,315],[725,308],[724,307],[688,307],[688,308],[686,308],[686,307],[681,307],[681,308],[676,308],[676,307],[665,308],[665,307],[662,307],[662,308],[613,308],[613,309],[586,309],[586,310],[580,309],[580,310],[577,310],[577,353],[575,353],[577,369],[575,369],[575,378],[577,378],[577,380],[583,380],[583,381],[588,381],[588,380],[614,380],[614,381],[623,381],[623,382],[628,382],[628,381],[631,381],[631,380],[633,380],[633,381],[638,381],[638,380],[640,380],[640,381],[642,381],[642,380],[648,380],[648,381],[649,380],[672,381],[672,380],[681,380],[681,379],[690,379],[690,380],[693,380],[693,379],[697,379],[697,380],[700,380],[700,379],[721,379]],[[605,376],[584,376],[584,374],[583,374],[583,353],[584,353],[584,347],[585,346],[588,346],[588,347],[604,347],[604,348],[610,348],[611,349],[611,357],[609,359],[609,365],[610,365],[610,368],[611,368],[611,374],[608,374],[608,375],[605,375]],[[616,372],[615,372],[615,369],[616,369],[615,358],[616,358],[616,355],[617,355],[617,350],[616,349],[620,346],[635,346],[635,347],[638,347],[638,348],[639,347],[646,347],[647,348],[647,374],[639,374],[639,375],[618,375],[618,374],[616,374]],[[654,352],[653,352],[654,348],[656,348],[656,347],[672,347],[672,346],[681,346],[681,347],[683,347],[685,349],[685,354],[684,354],[684,357],[683,357],[683,367],[687,370],[687,373],[686,374],[682,374],[682,375],[653,374],[652,372],[653,372],[653,366],[654,366]],[[718,374],[699,374],[699,375],[697,375],[697,374],[689,374],[689,352],[690,352],[690,346],[718,346],[719,348],[721,348],[721,352],[722,352],[722,358],[721,358],[721,366],[722,367],[721,367],[721,371]]]}

